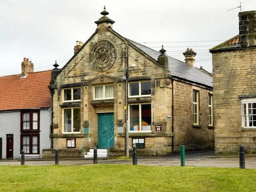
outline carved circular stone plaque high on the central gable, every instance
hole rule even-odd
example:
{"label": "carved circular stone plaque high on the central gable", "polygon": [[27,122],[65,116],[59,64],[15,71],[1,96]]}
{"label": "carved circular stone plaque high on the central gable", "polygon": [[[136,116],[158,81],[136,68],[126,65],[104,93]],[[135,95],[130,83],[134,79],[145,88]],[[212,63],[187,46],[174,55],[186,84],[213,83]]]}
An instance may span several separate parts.
{"label": "carved circular stone plaque high on the central gable", "polygon": [[116,48],[107,40],[96,42],[90,51],[90,65],[96,71],[110,69],[116,61]]}

